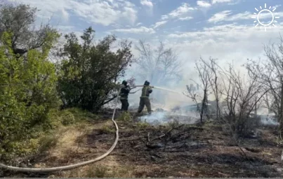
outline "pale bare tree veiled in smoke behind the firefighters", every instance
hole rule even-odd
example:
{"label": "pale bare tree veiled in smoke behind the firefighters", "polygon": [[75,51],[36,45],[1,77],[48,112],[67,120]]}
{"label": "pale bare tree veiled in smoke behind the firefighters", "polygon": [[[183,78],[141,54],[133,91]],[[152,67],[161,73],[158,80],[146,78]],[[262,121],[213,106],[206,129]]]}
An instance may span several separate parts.
{"label": "pale bare tree veiled in smoke behind the firefighters", "polygon": [[[140,40],[136,50],[138,50],[135,62],[138,80],[149,80],[154,86],[169,85],[180,80],[182,62],[172,48],[166,48],[162,42],[158,47],[154,47]],[[152,93],[152,97],[164,103],[165,98],[162,93]]]}

